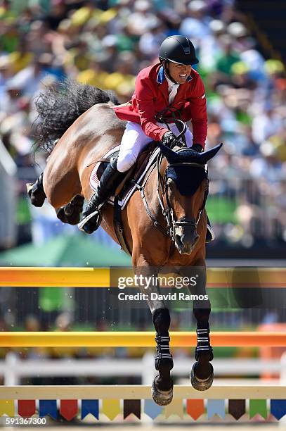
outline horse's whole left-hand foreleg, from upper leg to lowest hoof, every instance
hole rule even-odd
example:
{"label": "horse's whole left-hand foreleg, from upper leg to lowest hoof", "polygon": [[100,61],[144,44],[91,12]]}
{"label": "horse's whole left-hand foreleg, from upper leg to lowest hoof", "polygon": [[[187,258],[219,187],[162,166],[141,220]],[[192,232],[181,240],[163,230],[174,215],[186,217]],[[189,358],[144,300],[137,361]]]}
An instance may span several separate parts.
{"label": "horse's whole left-hand foreleg, from upper leg to lowest hoof", "polygon": [[[159,375],[152,382],[152,397],[160,406],[167,405],[173,398],[173,381],[170,371],[173,368],[173,358],[169,349],[170,314],[164,301],[155,296],[160,295],[158,285],[158,269],[142,263],[135,268],[136,275],[143,276],[139,288],[147,296],[148,306],[152,313],[152,323],[156,330],[155,341],[157,354],[155,356],[155,369]],[[153,294],[153,297],[152,297]],[[157,294],[157,295],[154,295]]]}

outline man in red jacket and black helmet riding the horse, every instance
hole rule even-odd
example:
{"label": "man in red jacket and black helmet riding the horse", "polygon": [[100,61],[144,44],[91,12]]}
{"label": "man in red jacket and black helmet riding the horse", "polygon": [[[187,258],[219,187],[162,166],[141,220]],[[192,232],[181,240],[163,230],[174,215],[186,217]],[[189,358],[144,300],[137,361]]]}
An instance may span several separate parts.
{"label": "man in red jacket and black helmet riding the horse", "polygon": [[[162,42],[160,63],[144,68],[138,73],[131,101],[112,106],[117,117],[126,120],[126,129],[119,154],[105,169],[98,189],[91,196],[79,228],[92,233],[101,221],[100,207],[115,193],[126,172],[136,162],[138,154],[152,141],[162,141],[167,146],[181,145],[176,139],[178,128],[175,120],[167,124],[164,117],[173,113],[184,122],[191,120],[192,132],[187,128],[186,145],[197,152],[204,151],[207,137],[207,104],[200,75],[192,69],[198,63],[195,48],[184,36],[170,36]],[[166,115],[167,114],[167,115]],[[214,239],[209,220],[206,242]]]}

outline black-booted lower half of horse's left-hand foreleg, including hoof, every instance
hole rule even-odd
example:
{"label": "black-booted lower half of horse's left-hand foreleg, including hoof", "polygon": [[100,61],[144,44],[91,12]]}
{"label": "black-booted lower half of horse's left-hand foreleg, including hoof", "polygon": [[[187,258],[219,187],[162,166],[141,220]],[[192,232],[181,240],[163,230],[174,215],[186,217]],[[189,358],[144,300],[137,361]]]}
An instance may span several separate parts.
{"label": "black-booted lower half of horse's left-hand foreleg, including hoof", "polygon": [[155,342],[157,343],[155,368],[159,371],[159,375],[152,382],[152,398],[159,406],[166,406],[173,399],[173,381],[170,371],[174,363],[169,347],[169,310],[167,308],[158,308],[152,313],[152,321],[156,330]]}

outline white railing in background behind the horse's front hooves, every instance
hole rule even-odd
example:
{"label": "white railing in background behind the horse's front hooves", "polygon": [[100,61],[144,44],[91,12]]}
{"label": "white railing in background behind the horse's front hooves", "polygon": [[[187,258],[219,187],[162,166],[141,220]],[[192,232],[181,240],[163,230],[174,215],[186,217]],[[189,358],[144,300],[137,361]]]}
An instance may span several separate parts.
{"label": "white railing in background behind the horse's front hooves", "polygon": [[[187,377],[193,366],[193,358],[174,357],[172,375]],[[213,361],[216,377],[260,375],[265,371],[285,375],[284,362],[279,360],[264,361],[248,358],[223,358]],[[0,375],[4,376],[4,385],[20,385],[21,377],[141,377],[142,385],[150,385],[157,373],[154,370],[154,354],[147,352],[141,359],[130,358],[95,358],[95,359],[26,359],[18,358],[14,352],[0,361]],[[283,374],[284,373],[284,374]],[[284,380],[285,382],[285,380]]]}

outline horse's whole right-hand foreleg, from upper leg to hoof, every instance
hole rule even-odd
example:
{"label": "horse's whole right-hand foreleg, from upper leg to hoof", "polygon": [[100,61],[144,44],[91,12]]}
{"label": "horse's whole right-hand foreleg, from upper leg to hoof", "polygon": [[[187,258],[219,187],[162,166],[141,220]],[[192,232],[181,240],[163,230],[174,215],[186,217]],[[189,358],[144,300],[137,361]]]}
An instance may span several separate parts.
{"label": "horse's whole right-hand foreleg, from upper leg to hoof", "polygon": [[[204,299],[194,299],[193,313],[197,320],[197,346],[195,349],[195,364],[190,373],[190,382],[195,389],[204,391],[212,386],[214,380],[214,369],[210,361],[214,358],[212,346],[209,339],[209,315],[211,304],[206,293],[206,268],[195,266],[186,270],[188,277],[196,276],[196,285],[189,285],[190,293]],[[186,272],[184,272],[186,275]]]}

